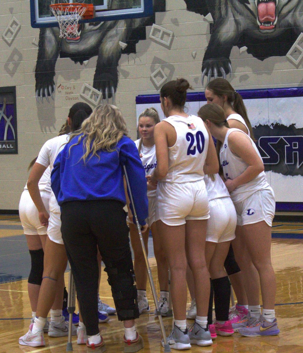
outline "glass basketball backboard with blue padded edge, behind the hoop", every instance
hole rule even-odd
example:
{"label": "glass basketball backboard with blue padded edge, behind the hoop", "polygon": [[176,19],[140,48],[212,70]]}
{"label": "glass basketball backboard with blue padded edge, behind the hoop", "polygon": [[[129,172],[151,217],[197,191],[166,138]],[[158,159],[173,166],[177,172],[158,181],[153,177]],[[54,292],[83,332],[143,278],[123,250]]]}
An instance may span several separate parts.
{"label": "glass basketball backboard with blue padded edge, behind the hoop", "polygon": [[95,6],[95,17],[80,20],[79,23],[148,17],[153,14],[152,0],[30,0],[31,26],[33,28],[57,26],[58,22],[49,5],[73,2]]}

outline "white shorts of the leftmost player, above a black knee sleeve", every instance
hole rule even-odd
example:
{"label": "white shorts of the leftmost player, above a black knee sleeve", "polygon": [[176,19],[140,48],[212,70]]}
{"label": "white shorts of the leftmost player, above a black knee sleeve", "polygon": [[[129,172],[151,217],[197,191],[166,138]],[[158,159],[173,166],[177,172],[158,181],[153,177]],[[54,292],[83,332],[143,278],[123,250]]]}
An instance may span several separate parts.
{"label": "white shorts of the leftmost player, above a black knee sleeve", "polygon": [[[43,204],[49,212],[48,202],[50,193],[40,191]],[[38,210],[30,197],[28,190],[24,190],[19,202],[19,216],[23,227],[24,234],[26,235],[43,235],[46,234],[47,227],[41,226]]]}

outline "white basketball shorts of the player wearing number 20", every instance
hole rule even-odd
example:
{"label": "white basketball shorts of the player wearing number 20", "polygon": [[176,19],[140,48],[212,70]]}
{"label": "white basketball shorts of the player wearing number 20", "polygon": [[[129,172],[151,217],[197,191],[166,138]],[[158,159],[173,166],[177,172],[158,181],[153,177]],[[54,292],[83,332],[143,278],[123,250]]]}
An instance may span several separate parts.
{"label": "white basketball shorts of the player wearing number 20", "polygon": [[209,216],[204,180],[157,185],[156,221],[181,226],[188,220],[206,220]]}

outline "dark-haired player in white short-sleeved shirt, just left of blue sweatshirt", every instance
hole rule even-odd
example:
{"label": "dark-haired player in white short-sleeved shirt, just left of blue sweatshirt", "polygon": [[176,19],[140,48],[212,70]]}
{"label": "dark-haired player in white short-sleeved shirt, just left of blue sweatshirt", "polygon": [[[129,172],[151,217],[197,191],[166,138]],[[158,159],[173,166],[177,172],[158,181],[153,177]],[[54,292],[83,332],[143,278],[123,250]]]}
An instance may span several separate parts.
{"label": "dark-haired player in white short-sleeved shirt, just left of blue sweatshirt", "polygon": [[[75,103],[68,114],[68,123],[71,131],[77,130],[83,120],[92,112],[86,103]],[[64,288],[64,272],[67,265],[65,247],[61,237],[60,207],[56,202],[53,193],[49,199],[49,212],[45,207],[38,183],[47,168],[53,168],[53,163],[57,154],[68,142],[69,135],[63,134],[48,140],[39,152],[38,158],[32,167],[28,179],[28,190],[32,201],[38,209],[38,216],[42,226],[47,228],[46,245],[44,252],[43,280],[39,292],[36,317],[34,323],[30,325],[28,333],[19,338],[19,344],[31,347],[45,346],[43,328],[46,324],[47,314],[54,303],[60,297],[61,304],[56,310],[51,311],[48,335],[51,337],[61,337],[68,335],[68,323],[62,316],[62,298]],[[56,261],[54,261],[54,258]],[[61,291],[58,294],[60,287]],[[80,323],[79,323],[80,326]],[[76,334],[77,329],[73,326],[72,334]]]}

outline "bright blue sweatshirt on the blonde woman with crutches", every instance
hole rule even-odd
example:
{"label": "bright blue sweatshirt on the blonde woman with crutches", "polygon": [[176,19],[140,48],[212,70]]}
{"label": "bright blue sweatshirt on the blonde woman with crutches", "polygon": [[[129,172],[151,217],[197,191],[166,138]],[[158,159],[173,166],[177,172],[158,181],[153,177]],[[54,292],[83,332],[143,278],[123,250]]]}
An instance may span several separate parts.
{"label": "bright blue sweatshirt on the blonde woman with crutches", "polygon": [[81,159],[83,141],[73,146],[69,155],[69,148],[77,141],[78,136],[69,141],[54,162],[51,189],[58,204],[101,199],[114,199],[126,204],[123,184],[125,165],[138,221],[144,226],[148,217],[147,182],[135,143],[129,137],[123,136],[115,151],[99,150],[97,154],[100,158],[90,158],[90,154],[84,163]]}

